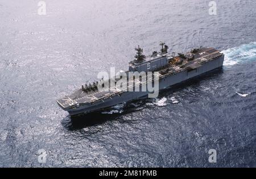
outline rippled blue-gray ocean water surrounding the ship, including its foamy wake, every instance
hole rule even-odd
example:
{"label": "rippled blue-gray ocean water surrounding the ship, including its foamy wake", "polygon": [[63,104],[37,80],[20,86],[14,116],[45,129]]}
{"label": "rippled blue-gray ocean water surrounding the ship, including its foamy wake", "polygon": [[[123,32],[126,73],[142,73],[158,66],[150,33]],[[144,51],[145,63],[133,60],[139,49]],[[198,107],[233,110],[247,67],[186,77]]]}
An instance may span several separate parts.
{"label": "rippled blue-gray ocean water surrounding the ship, including its foamy wake", "polygon": [[[0,1],[0,166],[256,166],[256,1],[217,0],[217,15],[206,0],[38,2]],[[220,49],[224,66],[105,113],[57,106],[160,40]]]}

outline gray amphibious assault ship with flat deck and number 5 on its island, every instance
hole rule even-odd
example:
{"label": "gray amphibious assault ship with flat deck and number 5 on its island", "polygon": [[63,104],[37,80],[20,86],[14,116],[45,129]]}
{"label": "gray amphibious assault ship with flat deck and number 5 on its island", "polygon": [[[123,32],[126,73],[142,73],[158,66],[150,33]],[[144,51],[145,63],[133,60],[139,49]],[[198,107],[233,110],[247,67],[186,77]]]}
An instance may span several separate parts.
{"label": "gray amphibious assault ship with flat deck and number 5 on its island", "polygon": [[[160,52],[154,51],[150,56],[144,56],[143,49],[138,46],[135,48],[137,51],[135,59],[129,63],[129,70],[119,72],[127,76],[130,72],[144,72],[146,73],[146,81],[141,76],[137,79],[134,76],[129,76],[127,82],[131,81],[133,85],[120,88],[116,86],[117,78],[102,78],[100,81],[92,82],[89,85],[82,85],[81,89],[74,91],[73,94],[58,99],[57,104],[72,116],[108,109],[151,94],[152,91],[148,89],[146,91],[134,91],[135,88],[142,89],[142,86],[149,81],[156,85],[155,79],[157,79],[158,89],[161,90],[220,68],[224,62],[224,54],[214,48],[200,47],[184,54],[175,55],[174,52],[168,53],[168,46],[163,42],[160,43],[160,46],[162,47]],[[149,76],[149,72],[157,73]],[[105,90],[99,88],[111,83],[114,85],[105,86]]]}

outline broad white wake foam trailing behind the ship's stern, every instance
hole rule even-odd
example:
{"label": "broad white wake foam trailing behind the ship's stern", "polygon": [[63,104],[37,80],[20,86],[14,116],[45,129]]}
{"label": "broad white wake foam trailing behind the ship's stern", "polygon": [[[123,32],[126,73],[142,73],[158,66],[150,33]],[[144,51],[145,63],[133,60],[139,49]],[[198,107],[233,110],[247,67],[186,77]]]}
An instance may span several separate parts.
{"label": "broad white wake foam trailing behind the ship's stern", "polygon": [[222,51],[225,55],[224,66],[233,66],[243,61],[256,60],[256,42],[243,44]]}

